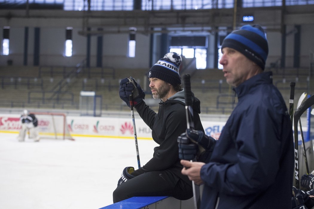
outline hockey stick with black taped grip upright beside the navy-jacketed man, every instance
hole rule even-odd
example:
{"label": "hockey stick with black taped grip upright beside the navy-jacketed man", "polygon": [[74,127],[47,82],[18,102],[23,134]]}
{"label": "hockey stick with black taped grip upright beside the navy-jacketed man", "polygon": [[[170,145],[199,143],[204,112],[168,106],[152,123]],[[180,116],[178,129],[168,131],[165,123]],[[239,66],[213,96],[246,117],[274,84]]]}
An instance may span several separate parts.
{"label": "hockey stick with black taped grip upright beside the navy-jacketed man", "polygon": [[[187,117],[187,128],[194,129],[194,116],[193,116],[193,108],[192,108],[192,92],[191,92],[190,74],[185,74],[183,76],[183,81],[184,81],[185,113]],[[201,206],[201,195],[200,195],[199,185],[195,185],[194,181],[192,181],[192,188],[193,188],[194,208],[198,209]]]}

